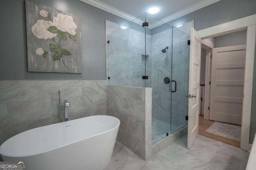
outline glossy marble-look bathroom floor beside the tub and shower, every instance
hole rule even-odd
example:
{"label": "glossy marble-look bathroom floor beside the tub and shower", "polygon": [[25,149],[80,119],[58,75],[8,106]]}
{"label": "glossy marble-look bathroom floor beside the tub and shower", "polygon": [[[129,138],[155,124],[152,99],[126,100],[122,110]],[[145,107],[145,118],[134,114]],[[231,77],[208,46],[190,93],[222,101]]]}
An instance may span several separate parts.
{"label": "glossy marble-look bathroom floor beside the tub and shower", "polygon": [[198,135],[190,150],[183,136],[147,161],[116,142],[104,170],[245,170],[249,152]]}

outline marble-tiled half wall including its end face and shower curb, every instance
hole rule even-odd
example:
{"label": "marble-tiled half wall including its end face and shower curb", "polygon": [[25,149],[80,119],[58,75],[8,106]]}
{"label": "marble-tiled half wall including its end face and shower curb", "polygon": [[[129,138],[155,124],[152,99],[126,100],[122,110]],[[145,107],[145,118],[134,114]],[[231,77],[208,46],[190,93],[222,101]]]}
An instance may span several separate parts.
{"label": "marble-tiled half wall including its end face and shower curb", "polygon": [[108,115],[120,120],[117,141],[147,160],[187,133],[184,128],[154,145],[152,141],[152,88],[107,86]]}

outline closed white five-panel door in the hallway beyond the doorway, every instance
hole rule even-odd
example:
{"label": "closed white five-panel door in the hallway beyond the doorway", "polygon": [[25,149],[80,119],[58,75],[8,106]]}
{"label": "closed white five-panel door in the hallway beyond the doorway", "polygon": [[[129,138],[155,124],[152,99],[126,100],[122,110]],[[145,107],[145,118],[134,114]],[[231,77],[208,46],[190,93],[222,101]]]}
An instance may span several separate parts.
{"label": "closed white five-panel door in the hallway beyond the doorway", "polygon": [[212,52],[210,120],[241,125],[246,45]]}

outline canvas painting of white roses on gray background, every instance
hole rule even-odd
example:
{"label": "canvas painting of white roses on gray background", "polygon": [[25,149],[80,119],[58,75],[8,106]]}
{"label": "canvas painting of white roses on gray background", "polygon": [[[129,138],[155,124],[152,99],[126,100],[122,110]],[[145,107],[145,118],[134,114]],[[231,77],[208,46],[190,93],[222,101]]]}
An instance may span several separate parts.
{"label": "canvas painting of white roses on gray background", "polygon": [[82,73],[81,18],[26,1],[28,71]]}

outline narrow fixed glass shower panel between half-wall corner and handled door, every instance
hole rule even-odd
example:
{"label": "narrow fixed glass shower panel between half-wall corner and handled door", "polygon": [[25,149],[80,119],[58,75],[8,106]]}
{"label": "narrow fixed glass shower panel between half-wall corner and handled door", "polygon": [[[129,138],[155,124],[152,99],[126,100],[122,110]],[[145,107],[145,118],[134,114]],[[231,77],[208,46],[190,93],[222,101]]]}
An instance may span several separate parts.
{"label": "narrow fixed glass shower panel between half-wall corner and handled door", "polygon": [[152,144],[170,134],[171,96],[169,84],[164,78],[171,78],[172,27],[166,23],[150,29],[162,22],[146,14],[149,27],[146,29],[146,87],[152,88]]}

